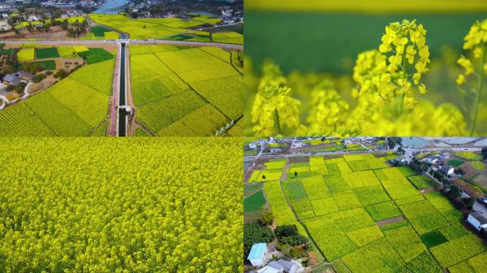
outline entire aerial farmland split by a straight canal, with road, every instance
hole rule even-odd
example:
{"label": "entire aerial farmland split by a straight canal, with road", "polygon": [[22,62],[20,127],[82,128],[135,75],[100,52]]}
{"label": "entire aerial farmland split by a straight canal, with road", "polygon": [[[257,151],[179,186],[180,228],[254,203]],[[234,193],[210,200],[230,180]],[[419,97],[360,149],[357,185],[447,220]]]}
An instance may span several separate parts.
{"label": "entire aerial farmland split by a straight canal, with road", "polygon": [[56,20],[82,33],[31,38],[41,33],[23,21],[22,41],[0,43],[0,136],[243,134],[242,23],[204,14]]}

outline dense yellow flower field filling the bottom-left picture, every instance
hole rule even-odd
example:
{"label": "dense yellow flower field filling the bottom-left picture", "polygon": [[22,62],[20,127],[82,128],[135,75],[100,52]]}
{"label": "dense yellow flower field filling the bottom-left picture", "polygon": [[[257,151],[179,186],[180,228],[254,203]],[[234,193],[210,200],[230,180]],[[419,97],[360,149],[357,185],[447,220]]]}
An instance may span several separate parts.
{"label": "dense yellow flower field filling the bottom-left picture", "polygon": [[0,272],[243,272],[241,142],[3,141]]}

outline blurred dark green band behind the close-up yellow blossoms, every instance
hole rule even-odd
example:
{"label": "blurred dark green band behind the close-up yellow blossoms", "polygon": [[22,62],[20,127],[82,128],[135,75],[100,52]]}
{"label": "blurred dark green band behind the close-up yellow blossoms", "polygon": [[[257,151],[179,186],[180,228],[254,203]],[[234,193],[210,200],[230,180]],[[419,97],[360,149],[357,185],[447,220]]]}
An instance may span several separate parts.
{"label": "blurred dark green band behind the close-up yellow blossoms", "polygon": [[464,36],[486,13],[472,14],[337,14],[247,11],[245,54],[253,64],[271,58],[284,73],[328,71],[352,73],[358,53],[378,48],[387,24],[416,18],[426,28],[431,58],[441,47],[461,49]]}

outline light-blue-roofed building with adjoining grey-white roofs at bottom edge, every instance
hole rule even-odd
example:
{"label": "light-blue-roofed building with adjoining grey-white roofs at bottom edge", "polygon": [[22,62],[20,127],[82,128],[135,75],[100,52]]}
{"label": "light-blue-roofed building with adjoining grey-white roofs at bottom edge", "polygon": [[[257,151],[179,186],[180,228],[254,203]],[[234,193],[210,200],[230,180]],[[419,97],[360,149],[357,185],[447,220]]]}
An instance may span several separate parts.
{"label": "light-blue-roofed building with adjoining grey-white roofs at bottom edge", "polygon": [[248,261],[258,268],[257,273],[300,273],[304,271],[303,265],[294,259],[278,259],[268,262],[269,252],[265,242],[253,244],[248,253]]}

